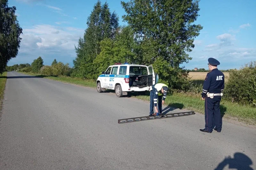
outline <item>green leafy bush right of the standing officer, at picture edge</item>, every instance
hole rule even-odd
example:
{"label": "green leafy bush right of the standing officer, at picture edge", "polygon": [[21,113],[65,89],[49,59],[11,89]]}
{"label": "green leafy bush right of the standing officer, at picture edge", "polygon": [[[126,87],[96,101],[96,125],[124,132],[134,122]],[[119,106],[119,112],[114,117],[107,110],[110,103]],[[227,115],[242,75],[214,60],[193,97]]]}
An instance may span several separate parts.
{"label": "green leafy bush right of the standing officer, at picture edge", "polygon": [[227,98],[238,103],[256,106],[256,61],[241,70],[230,70],[229,81],[224,89]]}

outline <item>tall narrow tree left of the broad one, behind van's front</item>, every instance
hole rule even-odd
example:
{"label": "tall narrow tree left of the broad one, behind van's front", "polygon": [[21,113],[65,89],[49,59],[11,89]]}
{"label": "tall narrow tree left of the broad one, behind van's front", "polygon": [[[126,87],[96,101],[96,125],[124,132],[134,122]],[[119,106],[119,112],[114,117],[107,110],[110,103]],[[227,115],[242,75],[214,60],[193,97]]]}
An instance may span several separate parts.
{"label": "tall narrow tree left of the broad one, behind van's front", "polygon": [[95,72],[96,68],[91,63],[101,52],[101,40],[114,38],[118,18],[114,12],[110,12],[107,3],[101,5],[101,2],[97,1],[87,19],[87,26],[83,38],[78,40],[78,47],[75,47],[77,57],[73,61],[75,69],[73,74],[76,74],[76,77],[90,78]]}

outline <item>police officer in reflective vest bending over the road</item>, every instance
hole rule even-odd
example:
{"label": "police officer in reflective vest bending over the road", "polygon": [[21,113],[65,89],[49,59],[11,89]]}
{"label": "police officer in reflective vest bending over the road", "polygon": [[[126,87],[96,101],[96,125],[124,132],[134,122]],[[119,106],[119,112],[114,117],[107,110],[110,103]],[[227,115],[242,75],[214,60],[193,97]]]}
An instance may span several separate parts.
{"label": "police officer in reflective vest bending over the road", "polygon": [[[165,103],[165,98],[167,95],[168,86],[163,83],[157,83],[150,87],[150,115],[154,114],[154,107],[157,116],[162,114],[162,104]],[[163,100],[162,100],[163,97]],[[158,99],[158,107],[157,107]]]}

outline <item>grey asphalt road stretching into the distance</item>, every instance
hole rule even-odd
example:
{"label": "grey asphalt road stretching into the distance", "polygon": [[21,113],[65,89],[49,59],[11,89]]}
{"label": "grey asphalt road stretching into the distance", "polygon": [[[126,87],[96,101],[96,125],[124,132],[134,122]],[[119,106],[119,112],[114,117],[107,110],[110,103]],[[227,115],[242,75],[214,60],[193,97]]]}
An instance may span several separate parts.
{"label": "grey asphalt road stretching into the distance", "polygon": [[117,123],[148,109],[134,98],[8,72],[0,169],[256,169],[255,129],[224,122],[221,133],[203,133],[199,114]]}

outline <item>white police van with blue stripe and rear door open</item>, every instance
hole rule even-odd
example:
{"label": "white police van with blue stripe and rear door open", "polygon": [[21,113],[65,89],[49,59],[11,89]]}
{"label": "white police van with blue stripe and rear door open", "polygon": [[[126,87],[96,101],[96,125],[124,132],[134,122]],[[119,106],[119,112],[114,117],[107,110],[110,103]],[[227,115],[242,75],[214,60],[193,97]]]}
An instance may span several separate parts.
{"label": "white police van with blue stripe and rear door open", "polygon": [[152,65],[115,63],[98,77],[97,91],[101,93],[105,89],[112,89],[117,97],[122,97],[128,92],[148,91],[157,82],[158,74],[154,73]]}

